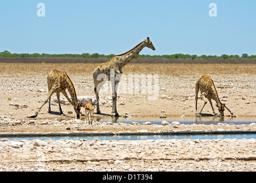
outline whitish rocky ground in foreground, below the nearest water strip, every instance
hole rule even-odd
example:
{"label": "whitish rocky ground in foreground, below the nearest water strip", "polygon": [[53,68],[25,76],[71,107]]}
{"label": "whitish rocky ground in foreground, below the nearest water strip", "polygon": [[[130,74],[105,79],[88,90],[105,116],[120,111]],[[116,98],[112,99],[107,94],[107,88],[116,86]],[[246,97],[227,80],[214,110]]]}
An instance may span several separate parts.
{"label": "whitish rocky ground in foreground, below the nearest water strip", "polygon": [[1,171],[255,171],[251,140],[0,140]]}

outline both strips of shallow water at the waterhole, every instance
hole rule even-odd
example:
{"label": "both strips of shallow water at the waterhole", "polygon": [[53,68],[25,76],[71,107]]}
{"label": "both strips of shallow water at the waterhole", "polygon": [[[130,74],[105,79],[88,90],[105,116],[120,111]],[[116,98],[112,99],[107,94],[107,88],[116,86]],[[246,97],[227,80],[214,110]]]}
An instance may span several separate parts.
{"label": "both strips of shallow water at the waterhole", "polygon": [[[81,120],[85,120],[85,118],[81,118]],[[223,124],[235,124],[235,125],[242,125],[242,124],[251,124],[251,123],[256,123],[256,118],[255,117],[214,117],[214,116],[204,116],[204,117],[167,117],[167,118],[159,118],[159,117],[111,117],[111,116],[103,116],[103,117],[94,117],[94,121],[100,121],[100,122],[123,122],[127,124],[131,124],[132,122],[138,122],[139,124],[143,122],[150,121],[151,124],[157,124],[161,125],[162,121],[168,121],[168,122],[173,122],[173,121],[179,121],[180,124],[204,124],[204,125],[218,125],[218,123],[223,123]],[[81,139],[86,139],[86,140],[94,140],[95,138],[99,138],[100,140],[157,140],[157,139],[164,139],[164,140],[170,140],[170,139],[225,139],[225,138],[255,138],[256,139],[256,134],[253,133],[238,133],[238,134],[168,134],[168,135],[152,135],[152,136],[136,136],[136,135],[131,135],[131,136],[65,136],[65,137],[7,137],[9,140],[34,140],[34,139],[39,139],[39,140],[81,140]]]}

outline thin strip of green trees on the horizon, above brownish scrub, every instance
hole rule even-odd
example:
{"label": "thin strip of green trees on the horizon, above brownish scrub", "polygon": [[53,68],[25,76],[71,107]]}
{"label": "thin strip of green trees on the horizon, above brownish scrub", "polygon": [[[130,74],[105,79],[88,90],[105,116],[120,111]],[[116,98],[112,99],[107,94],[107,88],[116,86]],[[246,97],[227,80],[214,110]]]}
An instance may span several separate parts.
{"label": "thin strip of green trees on the horizon, above brownish scrub", "polygon": [[[99,53],[82,53],[82,54],[46,54],[46,53],[10,53],[9,51],[5,50],[3,52],[0,52],[0,57],[21,57],[21,58],[38,58],[38,57],[69,57],[69,58],[111,58],[115,56],[115,54],[109,54],[109,55],[104,55],[104,54],[99,54]],[[239,55],[227,55],[223,54],[221,56],[216,56],[216,55],[190,55],[190,54],[171,54],[171,55],[137,55],[136,58],[169,58],[169,59],[176,59],[176,58],[202,58],[202,59],[209,59],[209,58],[223,58],[223,59],[229,59],[229,58],[256,58],[256,55],[248,55],[246,53],[242,54],[241,56]]]}

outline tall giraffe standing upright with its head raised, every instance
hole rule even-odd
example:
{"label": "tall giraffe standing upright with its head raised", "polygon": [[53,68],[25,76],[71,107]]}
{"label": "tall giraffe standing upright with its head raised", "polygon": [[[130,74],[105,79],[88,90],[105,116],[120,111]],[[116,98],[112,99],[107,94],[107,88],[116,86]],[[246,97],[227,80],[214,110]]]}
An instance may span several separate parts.
{"label": "tall giraffe standing upright with its head raised", "polygon": [[[96,94],[97,101],[99,101],[99,92],[104,83],[106,81],[111,81],[112,83],[112,117],[119,116],[116,110],[116,100],[117,86],[119,84],[121,74],[123,74],[122,68],[135,58],[144,47],[156,50],[153,43],[149,41],[149,38],[147,38],[133,47],[133,49],[123,54],[115,55],[109,59],[109,61],[97,65],[96,69],[93,71],[93,81],[95,86],[94,92]],[[100,114],[99,102],[97,102],[97,114]]]}

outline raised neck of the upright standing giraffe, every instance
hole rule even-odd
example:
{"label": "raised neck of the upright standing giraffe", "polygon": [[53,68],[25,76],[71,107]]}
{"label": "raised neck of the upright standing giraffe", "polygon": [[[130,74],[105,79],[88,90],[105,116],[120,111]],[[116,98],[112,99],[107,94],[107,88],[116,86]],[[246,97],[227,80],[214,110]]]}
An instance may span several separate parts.
{"label": "raised neck of the upright standing giraffe", "polygon": [[137,46],[133,47],[133,49],[127,51],[124,54],[116,55],[114,60],[118,62],[118,65],[120,68],[123,68],[127,63],[131,62],[132,59],[134,59],[140,51],[145,47],[144,41],[140,42]]}

